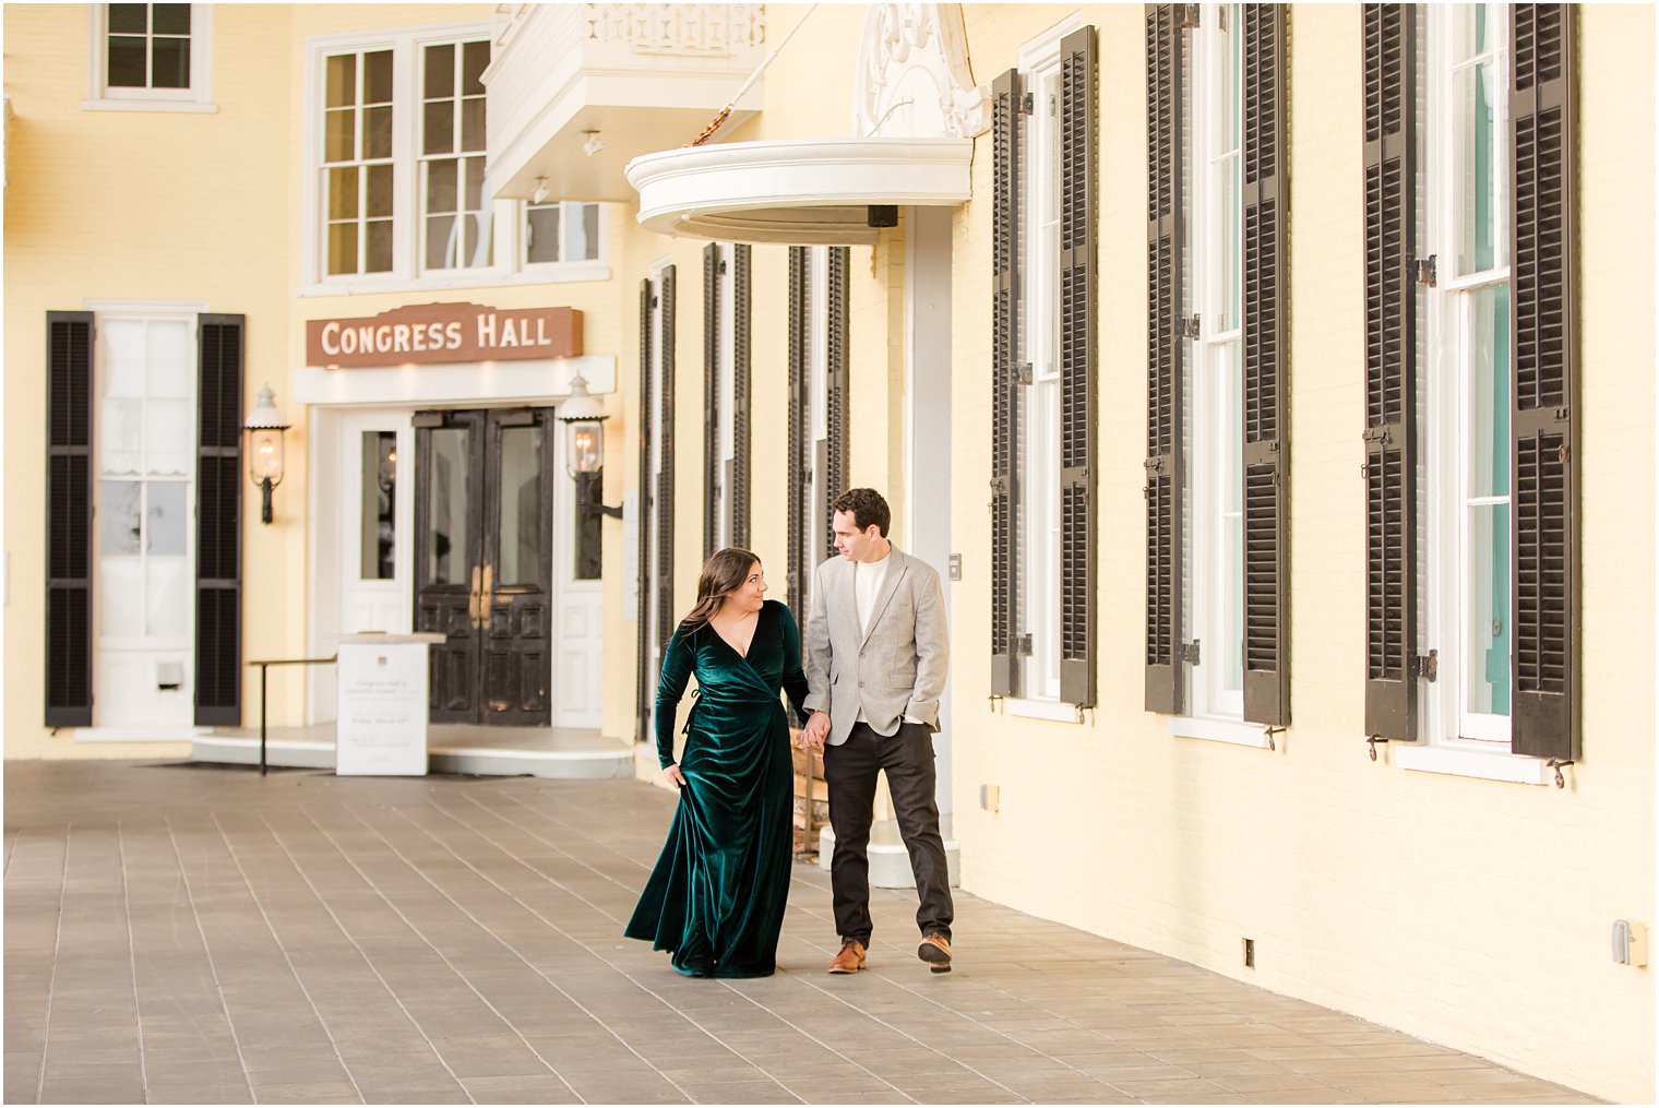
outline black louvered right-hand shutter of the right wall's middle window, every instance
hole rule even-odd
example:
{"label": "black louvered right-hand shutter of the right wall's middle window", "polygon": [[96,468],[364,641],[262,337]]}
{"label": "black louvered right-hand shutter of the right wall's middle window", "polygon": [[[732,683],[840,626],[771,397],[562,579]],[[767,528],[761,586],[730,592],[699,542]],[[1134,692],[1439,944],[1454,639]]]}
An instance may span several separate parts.
{"label": "black louvered right-hand shutter of the right wall's middle window", "polygon": [[1244,5],[1244,718],[1291,722],[1286,12]]}

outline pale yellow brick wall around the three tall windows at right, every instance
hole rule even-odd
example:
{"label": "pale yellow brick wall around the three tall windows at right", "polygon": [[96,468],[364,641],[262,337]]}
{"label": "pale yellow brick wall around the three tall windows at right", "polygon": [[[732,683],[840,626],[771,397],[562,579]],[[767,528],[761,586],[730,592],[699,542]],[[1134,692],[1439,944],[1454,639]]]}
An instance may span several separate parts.
{"label": "pale yellow brick wall around the three tall windows at right", "polygon": [[[969,8],[975,78],[1065,10]],[[1291,53],[1292,715],[1277,751],[1171,738],[1140,710],[1145,63],[1140,8],[1100,27],[1100,708],[990,712],[989,214],[957,222],[956,829],[994,901],[1400,1027],[1606,1096],[1652,1096],[1651,970],[1608,957],[1652,922],[1652,17],[1584,8],[1584,760],[1569,788],[1365,758],[1360,40],[1296,7]],[[1113,109],[1131,104],[1133,109]],[[989,149],[974,163],[989,196]],[[1616,617],[1624,615],[1619,627]],[[1618,630],[1614,630],[1618,627]],[[1000,786],[1002,809],[977,806]],[[1241,965],[1256,939],[1258,969]]]}

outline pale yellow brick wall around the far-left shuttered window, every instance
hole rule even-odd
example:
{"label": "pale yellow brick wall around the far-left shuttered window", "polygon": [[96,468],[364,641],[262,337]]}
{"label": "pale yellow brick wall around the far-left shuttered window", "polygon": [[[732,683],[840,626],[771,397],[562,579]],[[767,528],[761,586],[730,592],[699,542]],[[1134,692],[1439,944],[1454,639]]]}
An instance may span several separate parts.
{"label": "pale yellow brick wall around the far-left shuttered window", "polygon": [[[289,40],[290,12],[214,12],[211,114],[83,109],[88,13],[90,5],[5,8],[5,90],[15,113],[5,187],[7,758],[186,750],[78,745],[41,727],[45,313],[81,310],[86,300],[206,300],[207,312],[249,317],[251,388],[265,380],[280,388],[289,365],[292,282],[279,231],[297,202],[289,174],[294,90],[284,51],[270,45]],[[279,511],[294,519],[302,501],[290,498],[287,488],[277,493]],[[260,527],[257,511],[244,516],[242,536],[254,657],[285,635],[282,595],[289,581],[302,581],[305,547],[297,527]],[[274,587],[252,587],[262,579]]]}

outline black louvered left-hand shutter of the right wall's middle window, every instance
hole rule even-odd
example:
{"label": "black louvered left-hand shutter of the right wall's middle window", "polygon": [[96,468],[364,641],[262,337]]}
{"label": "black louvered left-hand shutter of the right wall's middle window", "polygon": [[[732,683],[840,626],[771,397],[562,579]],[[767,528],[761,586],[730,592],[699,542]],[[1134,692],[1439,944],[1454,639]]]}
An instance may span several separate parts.
{"label": "black louvered left-hand shutter of the right wall's middle window", "polygon": [[1183,8],[1146,12],[1146,710],[1181,712]]}

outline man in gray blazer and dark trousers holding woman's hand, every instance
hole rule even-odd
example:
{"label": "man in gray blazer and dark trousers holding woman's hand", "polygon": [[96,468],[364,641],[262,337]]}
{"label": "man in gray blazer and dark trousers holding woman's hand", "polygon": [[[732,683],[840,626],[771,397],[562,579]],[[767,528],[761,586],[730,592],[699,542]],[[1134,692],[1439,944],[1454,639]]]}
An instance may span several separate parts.
{"label": "man in gray blazer and dark trousers holding woman's hand", "polygon": [[801,731],[803,745],[825,748],[830,786],[830,887],[841,932],[830,972],[856,974],[869,949],[869,824],[876,775],[886,770],[921,897],[916,954],[944,974],[954,911],[932,753],[949,662],[944,590],[931,566],[888,541],[893,513],[879,493],[848,489],[833,511],[841,557],[813,574],[806,619],[806,708],[813,715]]}

